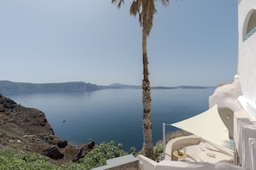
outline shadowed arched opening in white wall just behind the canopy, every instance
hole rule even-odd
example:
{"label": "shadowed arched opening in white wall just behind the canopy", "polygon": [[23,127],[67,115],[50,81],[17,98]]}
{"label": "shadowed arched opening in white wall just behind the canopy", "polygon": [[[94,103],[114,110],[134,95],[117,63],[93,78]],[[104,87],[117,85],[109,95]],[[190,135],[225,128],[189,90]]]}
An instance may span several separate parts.
{"label": "shadowed arched opening in white wall just behind the canopy", "polygon": [[228,135],[230,139],[233,139],[234,132],[234,112],[228,107],[218,108],[218,112],[222,118],[222,122],[228,128]]}

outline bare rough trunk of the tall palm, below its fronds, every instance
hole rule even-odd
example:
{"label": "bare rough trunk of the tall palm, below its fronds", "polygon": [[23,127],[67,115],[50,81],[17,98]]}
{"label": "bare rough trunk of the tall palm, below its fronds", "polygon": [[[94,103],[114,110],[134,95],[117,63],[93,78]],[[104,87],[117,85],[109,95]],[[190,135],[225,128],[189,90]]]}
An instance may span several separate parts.
{"label": "bare rough trunk of the tall palm, below its fronds", "polygon": [[151,122],[151,90],[148,79],[147,61],[147,33],[142,27],[142,51],[143,51],[143,82],[142,82],[142,104],[143,104],[143,155],[150,159],[153,156],[152,122]]}

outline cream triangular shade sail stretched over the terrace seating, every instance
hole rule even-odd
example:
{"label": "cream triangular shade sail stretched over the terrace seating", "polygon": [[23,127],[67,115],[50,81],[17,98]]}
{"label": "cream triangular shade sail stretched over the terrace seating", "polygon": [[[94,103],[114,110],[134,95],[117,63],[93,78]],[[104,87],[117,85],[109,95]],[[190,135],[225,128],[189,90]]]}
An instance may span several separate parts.
{"label": "cream triangular shade sail stretched over the terrace seating", "polygon": [[228,128],[222,122],[217,105],[197,116],[172,124],[172,126],[189,131],[211,143],[230,149]]}

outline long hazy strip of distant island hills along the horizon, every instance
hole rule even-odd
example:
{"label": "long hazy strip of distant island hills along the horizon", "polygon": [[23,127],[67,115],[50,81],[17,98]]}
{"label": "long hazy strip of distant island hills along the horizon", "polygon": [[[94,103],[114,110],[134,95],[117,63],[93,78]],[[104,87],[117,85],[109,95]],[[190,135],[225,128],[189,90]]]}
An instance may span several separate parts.
{"label": "long hazy strip of distant island hills along the horizon", "polygon": [[[90,82],[59,82],[59,83],[30,83],[0,81],[1,94],[24,94],[24,93],[53,93],[53,92],[85,92],[100,89],[140,89],[138,85],[124,85],[120,83],[102,86]],[[203,86],[177,86],[177,87],[151,87],[152,89],[175,89],[175,88],[215,88]]]}

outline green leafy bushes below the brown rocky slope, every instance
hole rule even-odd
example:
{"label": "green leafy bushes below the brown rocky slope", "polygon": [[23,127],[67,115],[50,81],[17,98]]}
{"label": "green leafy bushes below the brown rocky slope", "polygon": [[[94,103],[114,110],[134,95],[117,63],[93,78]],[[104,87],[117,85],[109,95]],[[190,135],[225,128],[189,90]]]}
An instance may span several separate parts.
{"label": "green leafy bushes below the brown rocky slope", "polygon": [[101,143],[79,162],[68,161],[62,165],[53,164],[47,156],[39,155],[34,152],[17,152],[14,149],[0,149],[0,169],[37,169],[37,170],[90,170],[106,164],[106,161],[122,155],[128,155],[122,150],[122,144],[117,146],[112,141]]}

